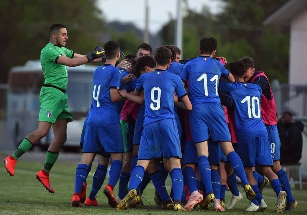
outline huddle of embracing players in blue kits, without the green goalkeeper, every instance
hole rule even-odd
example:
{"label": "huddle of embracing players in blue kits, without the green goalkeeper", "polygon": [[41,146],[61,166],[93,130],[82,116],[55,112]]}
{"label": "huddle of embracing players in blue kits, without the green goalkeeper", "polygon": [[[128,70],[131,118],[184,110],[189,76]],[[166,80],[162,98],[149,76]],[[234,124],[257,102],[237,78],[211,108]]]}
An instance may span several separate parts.
{"label": "huddle of embracing players in blue kits, without the green goalkeeper", "polygon": [[[197,204],[209,209],[210,203],[215,211],[233,209],[242,200],[236,175],[251,200],[247,211],[267,209],[262,191],[269,182],[277,197],[275,212],[297,207],[279,163],[269,80],[255,69],[251,57],[227,64],[216,56],[216,39],[205,36],[196,58],[179,61],[180,50],[172,45],[158,47],[152,57],[150,45],[141,44],[119,70],[119,44],[109,41],[104,49],[106,62],[93,75],[72,206],[98,205],[96,194],[111,157],[103,192],[118,210],[142,206],[150,180],[161,209],[191,211]],[[99,165],[86,198],[95,155]],[[168,175],[170,194],[165,187]],[[226,183],[233,196],[225,205]]]}

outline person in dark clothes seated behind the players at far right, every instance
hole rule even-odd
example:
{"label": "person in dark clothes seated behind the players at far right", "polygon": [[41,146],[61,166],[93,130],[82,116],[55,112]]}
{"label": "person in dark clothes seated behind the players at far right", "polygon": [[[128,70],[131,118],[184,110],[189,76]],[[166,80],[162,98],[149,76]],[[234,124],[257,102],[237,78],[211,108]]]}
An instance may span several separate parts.
{"label": "person in dark clothes seated behind the players at far right", "polygon": [[298,163],[302,157],[303,137],[301,132],[304,129],[303,123],[299,121],[293,122],[292,114],[283,112],[277,128],[281,141],[280,163]]}

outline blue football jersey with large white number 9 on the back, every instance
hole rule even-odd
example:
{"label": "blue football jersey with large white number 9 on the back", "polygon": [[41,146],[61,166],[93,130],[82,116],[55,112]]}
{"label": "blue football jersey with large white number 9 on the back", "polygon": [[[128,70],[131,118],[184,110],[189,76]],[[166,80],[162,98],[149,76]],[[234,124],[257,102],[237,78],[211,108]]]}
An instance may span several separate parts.
{"label": "blue football jersey with large white number 9 on the back", "polygon": [[174,93],[179,98],[187,95],[178,75],[159,69],[141,75],[136,90],[144,90],[144,126],[161,119],[175,119]]}

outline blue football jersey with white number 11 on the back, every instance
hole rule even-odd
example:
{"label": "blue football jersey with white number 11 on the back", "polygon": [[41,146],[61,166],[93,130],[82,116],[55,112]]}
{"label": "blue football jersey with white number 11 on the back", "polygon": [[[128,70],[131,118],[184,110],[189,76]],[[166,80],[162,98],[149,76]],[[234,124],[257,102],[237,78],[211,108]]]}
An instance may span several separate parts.
{"label": "blue football jersey with white number 11 on the back", "polygon": [[189,98],[192,105],[204,102],[220,103],[218,84],[220,77],[228,77],[229,71],[220,61],[209,56],[199,56],[187,62],[180,78],[189,80]]}

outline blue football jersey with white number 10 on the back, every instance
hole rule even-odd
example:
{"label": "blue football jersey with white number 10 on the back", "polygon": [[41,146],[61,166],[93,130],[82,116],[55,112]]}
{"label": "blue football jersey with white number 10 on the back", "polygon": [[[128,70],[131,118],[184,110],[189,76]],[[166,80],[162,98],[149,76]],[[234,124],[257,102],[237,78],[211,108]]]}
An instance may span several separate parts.
{"label": "blue football jersey with white number 10 on the back", "polygon": [[228,92],[234,99],[234,121],[238,138],[268,136],[261,117],[260,98],[262,91],[260,86],[222,81],[220,88]]}

